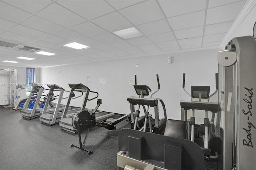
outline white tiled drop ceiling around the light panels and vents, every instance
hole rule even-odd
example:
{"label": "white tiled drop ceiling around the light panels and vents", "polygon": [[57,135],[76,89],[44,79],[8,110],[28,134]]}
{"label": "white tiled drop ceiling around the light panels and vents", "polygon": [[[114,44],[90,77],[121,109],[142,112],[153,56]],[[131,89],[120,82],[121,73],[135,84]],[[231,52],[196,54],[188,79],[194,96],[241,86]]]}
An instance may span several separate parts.
{"label": "white tiled drop ceiling around the light panels and vents", "polygon": [[[0,0],[0,65],[53,67],[182,51],[217,49],[246,0]],[[135,27],[143,36],[112,32]],[[71,49],[77,42],[90,48]],[[35,58],[31,61],[16,57]],[[5,63],[4,60],[19,61]]]}

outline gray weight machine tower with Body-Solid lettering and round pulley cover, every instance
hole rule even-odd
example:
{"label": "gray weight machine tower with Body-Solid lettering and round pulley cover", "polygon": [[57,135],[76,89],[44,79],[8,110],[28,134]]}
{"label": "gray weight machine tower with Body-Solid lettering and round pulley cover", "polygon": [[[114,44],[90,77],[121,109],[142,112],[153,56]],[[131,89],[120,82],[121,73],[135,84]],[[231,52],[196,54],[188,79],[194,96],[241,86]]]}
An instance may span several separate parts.
{"label": "gray weight machine tower with Body-Solid lettering and round pulley cover", "polygon": [[252,170],[256,162],[256,41],[252,36],[233,38],[218,51],[224,73],[223,169]]}

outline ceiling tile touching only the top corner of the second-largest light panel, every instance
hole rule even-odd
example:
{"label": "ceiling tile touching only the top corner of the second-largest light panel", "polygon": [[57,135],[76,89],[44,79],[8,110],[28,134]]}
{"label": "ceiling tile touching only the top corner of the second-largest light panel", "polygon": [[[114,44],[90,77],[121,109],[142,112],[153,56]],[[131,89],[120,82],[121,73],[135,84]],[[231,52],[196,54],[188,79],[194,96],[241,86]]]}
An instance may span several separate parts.
{"label": "ceiling tile touching only the top corner of the second-largest light panel", "polygon": [[58,33],[54,34],[54,36],[65,38],[65,39],[73,41],[73,42],[76,42],[78,40],[83,40],[83,39],[88,38],[87,36],[84,36],[82,34],[79,34],[77,32],[69,30],[69,29],[66,29],[66,30],[63,30],[61,32],[58,32]]}

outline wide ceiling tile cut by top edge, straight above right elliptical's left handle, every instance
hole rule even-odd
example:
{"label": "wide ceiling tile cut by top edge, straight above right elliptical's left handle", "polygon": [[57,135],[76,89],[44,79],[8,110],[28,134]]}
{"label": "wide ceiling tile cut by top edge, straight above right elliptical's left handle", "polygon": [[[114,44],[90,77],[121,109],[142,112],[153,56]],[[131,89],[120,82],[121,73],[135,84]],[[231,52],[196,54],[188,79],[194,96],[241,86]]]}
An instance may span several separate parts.
{"label": "wide ceiling tile cut by top edge, straight above right elliptical's left handle", "polygon": [[158,0],[167,18],[204,10],[206,0]]}

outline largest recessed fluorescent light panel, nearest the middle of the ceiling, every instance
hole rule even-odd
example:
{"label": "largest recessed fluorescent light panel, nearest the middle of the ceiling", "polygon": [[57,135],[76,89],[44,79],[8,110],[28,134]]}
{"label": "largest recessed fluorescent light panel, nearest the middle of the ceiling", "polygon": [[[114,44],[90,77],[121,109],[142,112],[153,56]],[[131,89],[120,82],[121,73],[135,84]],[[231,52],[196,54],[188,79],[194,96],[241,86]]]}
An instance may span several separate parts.
{"label": "largest recessed fluorescent light panel, nearest the middle of the ceiling", "polygon": [[143,34],[139,32],[136,28],[126,28],[124,30],[119,30],[113,32],[117,36],[123,38],[123,39],[130,39],[130,38],[135,38],[135,37],[141,37]]}

